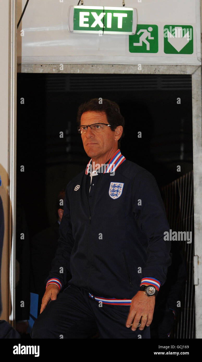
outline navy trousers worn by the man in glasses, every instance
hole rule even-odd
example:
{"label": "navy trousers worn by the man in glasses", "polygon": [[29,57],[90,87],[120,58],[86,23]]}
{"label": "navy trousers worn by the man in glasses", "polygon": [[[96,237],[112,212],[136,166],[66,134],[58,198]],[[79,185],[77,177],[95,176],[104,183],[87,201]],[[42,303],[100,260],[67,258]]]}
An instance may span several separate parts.
{"label": "navy trousers worn by the man in glasses", "polygon": [[91,299],[87,291],[68,286],[35,320],[31,338],[150,338],[143,331],[126,328],[130,306],[113,306]]}

